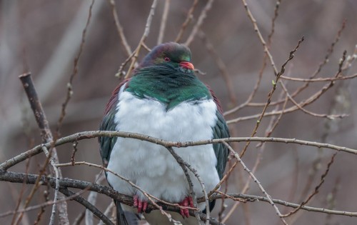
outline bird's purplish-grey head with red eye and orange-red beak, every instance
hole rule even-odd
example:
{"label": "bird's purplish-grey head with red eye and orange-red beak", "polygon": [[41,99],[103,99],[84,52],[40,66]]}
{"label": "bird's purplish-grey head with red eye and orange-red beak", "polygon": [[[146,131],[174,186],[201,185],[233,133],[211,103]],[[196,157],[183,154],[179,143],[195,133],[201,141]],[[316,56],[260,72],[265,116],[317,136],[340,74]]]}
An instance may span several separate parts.
{"label": "bird's purplish-grey head with red eye and orange-red beak", "polygon": [[190,49],[175,42],[167,42],[154,47],[141,61],[139,69],[156,65],[169,65],[188,71],[194,69],[193,64],[191,64]]}

